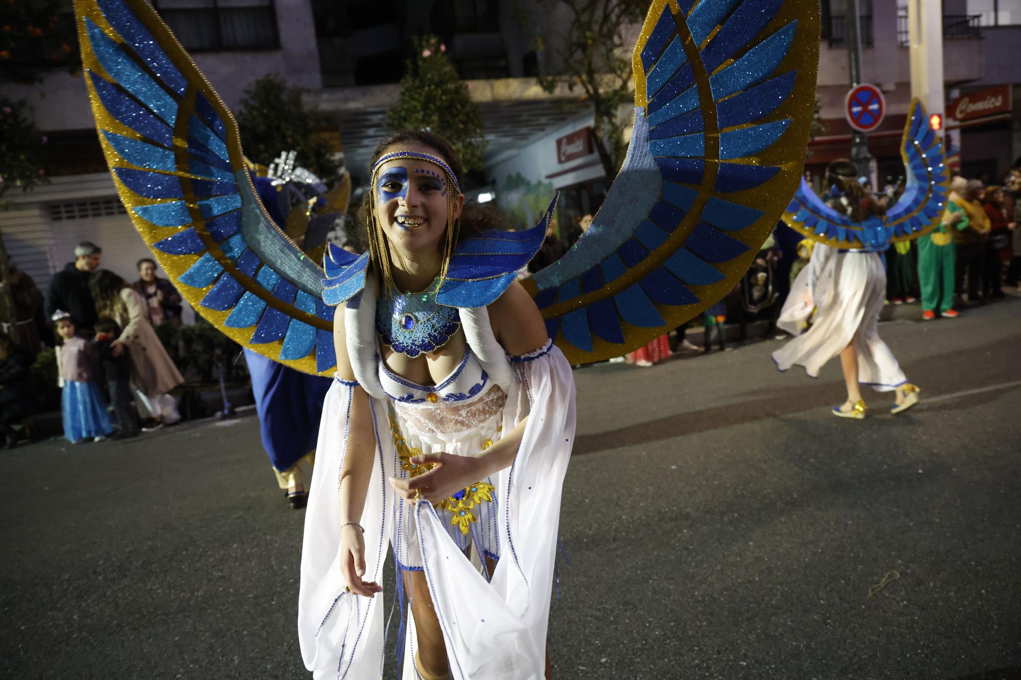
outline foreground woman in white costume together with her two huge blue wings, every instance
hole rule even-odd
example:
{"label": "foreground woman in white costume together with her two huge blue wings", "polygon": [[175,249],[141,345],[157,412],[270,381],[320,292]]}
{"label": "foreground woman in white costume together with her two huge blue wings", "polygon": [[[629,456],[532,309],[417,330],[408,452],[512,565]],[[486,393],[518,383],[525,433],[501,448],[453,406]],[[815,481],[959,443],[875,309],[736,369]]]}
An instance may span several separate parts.
{"label": "foreground woman in white costume together with her two huge blue wings", "polygon": [[[395,626],[405,680],[547,675],[575,433],[568,358],[625,354],[719,300],[800,177],[818,3],[736,4],[687,12],[653,0],[621,173],[578,244],[518,284],[552,206],[533,229],[478,231],[455,154],[422,133],[379,149],[370,251],[329,248],[324,280],[273,224],[241,173],[237,125],[151,6],[76,3],[104,154],[178,290],[271,359],[314,375],[336,367],[298,608],[317,677],[382,675],[389,545],[395,601],[410,595]],[[701,46],[697,68],[681,67],[690,45]],[[158,72],[140,76],[139,63]]]}

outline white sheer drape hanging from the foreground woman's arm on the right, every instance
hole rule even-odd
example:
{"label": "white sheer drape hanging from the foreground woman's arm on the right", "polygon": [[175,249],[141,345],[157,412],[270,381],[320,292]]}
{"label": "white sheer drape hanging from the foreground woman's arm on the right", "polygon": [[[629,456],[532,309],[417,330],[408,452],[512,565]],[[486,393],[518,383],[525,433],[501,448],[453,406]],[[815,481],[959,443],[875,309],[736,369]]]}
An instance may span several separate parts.
{"label": "white sheer drape hanging from the foreground woman's arm on the right", "polygon": [[455,680],[544,677],[561,491],[575,438],[574,378],[550,343],[513,365],[504,427],[529,418],[514,465],[499,474],[505,500],[492,581],[464,558],[429,503],[416,506],[425,576]]}

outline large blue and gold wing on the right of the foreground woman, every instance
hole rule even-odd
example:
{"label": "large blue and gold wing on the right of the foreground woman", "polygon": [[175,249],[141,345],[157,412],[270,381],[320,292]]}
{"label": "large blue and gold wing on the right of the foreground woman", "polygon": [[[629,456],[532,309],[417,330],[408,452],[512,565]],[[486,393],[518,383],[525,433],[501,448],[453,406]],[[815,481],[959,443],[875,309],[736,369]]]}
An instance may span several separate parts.
{"label": "large blue and gold wing on the right of the foreground woman", "polygon": [[818,0],[654,0],[634,131],[591,228],[524,282],[572,363],[680,326],[741,278],[797,187]]}

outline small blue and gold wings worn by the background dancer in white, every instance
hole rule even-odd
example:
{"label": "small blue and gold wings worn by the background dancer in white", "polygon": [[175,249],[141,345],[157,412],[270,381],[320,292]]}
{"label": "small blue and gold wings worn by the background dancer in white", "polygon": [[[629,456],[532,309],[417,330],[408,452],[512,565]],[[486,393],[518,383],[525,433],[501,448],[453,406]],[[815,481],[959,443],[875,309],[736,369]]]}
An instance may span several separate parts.
{"label": "small blue and gold wings worn by the background dancer in white", "polygon": [[909,110],[901,141],[901,157],[907,168],[905,190],[885,215],[852,222],[846,214],[827,205],[812,186],[801,180],[783,213],[783,221],[820,243],[872,250],[917,239],[935,229],[950,191],[950,173],[943,164],[942,143],[929,127],[922,103],[913,99]]}

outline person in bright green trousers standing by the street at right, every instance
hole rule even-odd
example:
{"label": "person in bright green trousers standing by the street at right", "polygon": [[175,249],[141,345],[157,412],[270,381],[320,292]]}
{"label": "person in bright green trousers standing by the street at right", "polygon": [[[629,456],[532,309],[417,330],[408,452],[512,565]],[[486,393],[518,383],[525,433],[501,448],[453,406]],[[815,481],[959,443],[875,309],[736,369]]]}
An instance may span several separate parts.
{"label": "person in bright green trousers standing by the street at right", "polygon": [[918,239],[918,283],[922,289],[922,319],[931,321],[940,315],[955,319],[954,309],[954,265],[957,251],[952,230],[967,226],[967,216],[952,199],[963,196],[968,181],[956,177],[951,181],[951,195],[946,208],[939,218],[939,225],[932,232]]}

